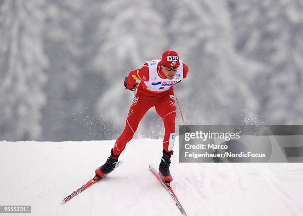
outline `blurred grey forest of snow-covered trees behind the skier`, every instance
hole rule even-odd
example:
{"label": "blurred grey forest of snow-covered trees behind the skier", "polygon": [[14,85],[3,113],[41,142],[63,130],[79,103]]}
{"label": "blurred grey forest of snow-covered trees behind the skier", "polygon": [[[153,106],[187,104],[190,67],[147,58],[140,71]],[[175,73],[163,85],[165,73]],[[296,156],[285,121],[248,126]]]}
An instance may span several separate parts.
{"label": "blurred grey forest of snow-covered trees behind the skier", "polygon": [[[117,138],[166,49],[186,124],[303,124],[302,0],[0,0],[0,140]],[[163,132],[152,108],[135,137]]]}

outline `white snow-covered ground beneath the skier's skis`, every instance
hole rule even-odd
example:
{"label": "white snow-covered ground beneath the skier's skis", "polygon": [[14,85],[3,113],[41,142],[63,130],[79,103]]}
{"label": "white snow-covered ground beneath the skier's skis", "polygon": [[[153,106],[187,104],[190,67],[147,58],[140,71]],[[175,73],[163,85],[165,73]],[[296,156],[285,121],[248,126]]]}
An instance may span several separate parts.
{"label": "white snow-covered ground beneath the skier's skis", "polygon": [[[76,196],[61,200],[94,176],[114,141],[0,142],[0,205],[31,205],[33,216],[178,216],[150,172],[162,143],[129,142],[121,167]],[[303,164],[178,163],[172,187],[189,216],[302,216]],[[19,214],[5,214],[19,215]]]}

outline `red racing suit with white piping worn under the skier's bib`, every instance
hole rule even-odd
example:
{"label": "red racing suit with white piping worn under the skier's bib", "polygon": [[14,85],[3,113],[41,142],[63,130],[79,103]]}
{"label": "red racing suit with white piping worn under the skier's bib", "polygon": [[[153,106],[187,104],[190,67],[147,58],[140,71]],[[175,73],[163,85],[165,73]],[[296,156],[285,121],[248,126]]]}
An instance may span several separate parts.
{"label": "red racing suit with white piping worn under the skier's bib", "polygon": [[[167,82],[169,82],[170,80],[168,80],[162,72],[161,64],[161,61],[157,63],[157,75],[160,77],[160,79],[166,79]],[[185,79],[189,73],[189,70],[185,64],[183,64],[182,67],[183,79]],[[143,82],[148,82],[150,81],[150,79],[152,79],[150,78],[149,70],[149,66],[146,63],[142,68],[133,70],[128,75],[127,88],[132,89],[135,86],[136,80],[141,80],[141,83],[138,86],[135,99],[133,100],[132,105],[129,109],[125,123],[125,129],[115,142],[113,148],[114,155],[121,154],[121,152],[126,146],[126,143],[133,138],[141,119],[146,114],[146,112],[152,107],[155,107],[157,114],[162,118],[164,123],[165,134],[163,139],[163,150],[165,150],[166,152],[172,151],[173,146],[171,146],[170,139],[172,136],[171,134],[173,134],[174,140],[176,119],[174,88],[173,86],[170,86],[169,89],[162,92],[149,90]]]}

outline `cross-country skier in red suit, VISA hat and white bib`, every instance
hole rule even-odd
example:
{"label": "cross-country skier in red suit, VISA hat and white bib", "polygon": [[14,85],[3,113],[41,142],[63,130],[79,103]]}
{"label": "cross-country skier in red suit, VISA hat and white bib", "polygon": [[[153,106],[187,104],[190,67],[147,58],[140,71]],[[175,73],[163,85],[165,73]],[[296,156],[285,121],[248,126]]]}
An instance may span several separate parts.
{"label": "cross-country skier in red suit, VISA hat and white bib", "polygon": [[133,138],[141,119],[150,108],[155,107],[165,128],[159,173],[164,182],[172,181],[169,165],[173,154],[176,118],[173,86],[185,79],[188,73],[188,66],[182,63],[178,53],[167,50],[161,59],[147,61],[142,68],[131,71],[128,77],[125,77],[124,86],[129,90],[136,90],[136,81],[141,82],[129,109],[125,129],[116,140],[105,164],[96,169],[97,177],[102,178],[113,171],[118,157],[126,143]]}

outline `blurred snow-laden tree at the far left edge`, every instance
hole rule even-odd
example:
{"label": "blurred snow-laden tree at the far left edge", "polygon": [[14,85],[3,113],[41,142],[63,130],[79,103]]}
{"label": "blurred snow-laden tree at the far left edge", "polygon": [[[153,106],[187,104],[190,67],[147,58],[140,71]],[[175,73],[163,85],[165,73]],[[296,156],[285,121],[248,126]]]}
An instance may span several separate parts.
{"label": "blurred snow-laden tree at the far left edge", "polygon": [[0,139],[41,135],[48,60],[42,41],[43,0],[0,1]]}

